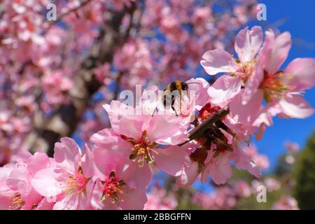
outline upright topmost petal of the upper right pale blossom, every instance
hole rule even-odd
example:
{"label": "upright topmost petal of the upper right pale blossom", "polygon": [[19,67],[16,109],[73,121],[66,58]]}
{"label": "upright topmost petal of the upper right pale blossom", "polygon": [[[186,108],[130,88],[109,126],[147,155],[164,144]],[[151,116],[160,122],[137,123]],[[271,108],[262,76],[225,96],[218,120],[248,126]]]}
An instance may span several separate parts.
{"label": "upright topmost petal of the upper right pale blossom", "polygon": [[248,30],[248,27],[239,31],[235,39],[235,51],[239,55],[242,64],[250,62],[257,54],[262,44],[262,29],[261,27],[253,27]]}

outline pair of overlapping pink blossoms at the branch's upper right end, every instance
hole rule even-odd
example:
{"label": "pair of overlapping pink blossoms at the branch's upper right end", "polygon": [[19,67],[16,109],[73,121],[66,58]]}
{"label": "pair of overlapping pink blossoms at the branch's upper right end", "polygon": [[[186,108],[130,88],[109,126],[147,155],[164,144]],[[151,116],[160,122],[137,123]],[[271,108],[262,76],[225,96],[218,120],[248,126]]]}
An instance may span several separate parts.
{"label": "pair of overlapping pink blossoms at the branch's upper right end", "polygon": [[[276,36],[261,27],[242,29],[235,39],[238,58],[224,50],[205,52],[202,66],[210,75],[224,72],[209,89],[217,104],[230,102],[230,114],[248,129],[259,127],[258,138],[272,117],[307,118],[314,109],[303,99],[303,91],[315,84],[315,59],[297,58],[281,70],[291,47],[288,32]],[[267,104],[263,105],[265,100]]]}

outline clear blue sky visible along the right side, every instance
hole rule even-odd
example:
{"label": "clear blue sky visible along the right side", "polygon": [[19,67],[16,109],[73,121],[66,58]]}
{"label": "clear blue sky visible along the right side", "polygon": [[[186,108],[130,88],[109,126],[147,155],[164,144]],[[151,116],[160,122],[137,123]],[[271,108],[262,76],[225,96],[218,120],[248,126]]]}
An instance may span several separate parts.
{"label": "clear blue sky visible along the right side", "polygon": [[[265,3],[267,6],[266,22],[269,25],[280,25],[278,29],[281,32],[290,31],[292,35],[293,47],[288,59],[283,64],[284,67],[296,57],[315,57],[315,1],[265,0],[259,2]],[[250,26],[263,24],[253,21]],[[315,88],[307,90],[304,97],[315,107]],[[269,156],[272,169],[276,158],[285,152],[283,142],[290,140],[304,146],[314,127],[315,116],[303,120],[274,118],[274,126],[267,129],[262,141],[257,142],[256,145],[260,153]]]}

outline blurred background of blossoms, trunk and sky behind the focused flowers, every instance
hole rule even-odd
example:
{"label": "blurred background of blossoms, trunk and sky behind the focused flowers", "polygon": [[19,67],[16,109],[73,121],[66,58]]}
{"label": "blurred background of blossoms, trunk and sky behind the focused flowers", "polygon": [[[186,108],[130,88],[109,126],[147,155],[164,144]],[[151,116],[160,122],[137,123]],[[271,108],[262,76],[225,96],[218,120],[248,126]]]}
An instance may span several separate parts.
{"label": "blurred background of blossoms, trunk and sky behind the focused flowers", "polygon": [[[57,20],[45,17],[48,3]],[[265,3],[267,20],[256,6]],[[109,127],[102,104],[122,90],[202,77],[207,50],[231,53],[240,29],[289,31],[296,57],[315,58],[315,1],[3,0],[0,1],[0,166],[21,151],[53,155],[55,142],[80,146]],[[305,98],[314,107],[315,89]],[[253,179],[235,169],[223,186],[196,181],[177,188],[157,172],[146,209],[315,209],[315,116],[279,119],[251,150],[263,168]],[[256,152],[257,151],[257,152]],[[267,202],[257,201],[257,187]]]}

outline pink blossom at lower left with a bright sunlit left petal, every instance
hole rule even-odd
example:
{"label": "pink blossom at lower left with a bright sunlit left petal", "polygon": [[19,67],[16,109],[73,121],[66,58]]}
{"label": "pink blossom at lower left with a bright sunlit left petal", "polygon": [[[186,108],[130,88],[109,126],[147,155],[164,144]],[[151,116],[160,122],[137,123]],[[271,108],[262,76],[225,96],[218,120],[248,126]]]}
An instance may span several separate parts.
{"label": "pink blossom at lower left with a bright sunlit left petal", "polygon": [[76,142],[62,138],[55,144],[55,165],[41,169],[31,180],[32,186],[43,197],[54,200],[53,209],[85,209],[89,206],[94,174],[92,153],[83,153]]}

